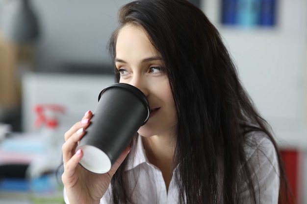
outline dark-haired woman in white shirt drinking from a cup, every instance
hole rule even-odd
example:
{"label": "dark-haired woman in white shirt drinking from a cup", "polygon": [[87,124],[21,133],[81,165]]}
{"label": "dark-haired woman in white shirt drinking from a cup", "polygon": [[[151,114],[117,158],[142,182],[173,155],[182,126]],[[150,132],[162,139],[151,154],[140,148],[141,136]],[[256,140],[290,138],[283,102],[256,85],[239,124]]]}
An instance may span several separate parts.
{"label": "dark-haired woman in white shirt drinking from a cup", "polygon": [[277,204],[286,189],[278,147],[204,13],[186,0],[140,0],[119,22],[117,79],[143,91],[152,112],[106,174],[83,169],[75,153],[92,112],[65,134],[66,202]]}

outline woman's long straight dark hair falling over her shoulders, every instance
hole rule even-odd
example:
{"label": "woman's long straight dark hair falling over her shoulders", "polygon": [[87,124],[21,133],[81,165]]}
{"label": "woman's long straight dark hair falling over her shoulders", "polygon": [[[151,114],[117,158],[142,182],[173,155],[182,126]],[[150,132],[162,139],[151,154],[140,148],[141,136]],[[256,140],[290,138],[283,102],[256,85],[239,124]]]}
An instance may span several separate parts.
{"label": "woman's long straight dark hair falling over her shoulders", "polygon": [[[244,165],[245,134],[253,130],[264,132],[275,146],[281,191],[286,189],[285,173],[271,129],[243,89],[218,30],[205,14],[186,0],[133,1],[124,5],[118,14],[120,26],[110,39],[113,57],[118,32],[126,24],[134,23],[145,29],[165,63],[178,121],[173,163],[174,166],[179,163],[174,176],[180,203],[237,204],[237,185],[244,180],[256,204],[253,170]],[[242,127],[242,121],[256,127]],[[222,166],[218,166],[218,157],[222,158]],[[124,174],[126,163],[127,159],[111,181],[115,204],[131,202],[123,187],[128,182]],[[240,166],[243,173],[239,175]],[[224,172],[222,178],[217,174],[220,168]],[[222,186],[221,192],[218,185]]]}

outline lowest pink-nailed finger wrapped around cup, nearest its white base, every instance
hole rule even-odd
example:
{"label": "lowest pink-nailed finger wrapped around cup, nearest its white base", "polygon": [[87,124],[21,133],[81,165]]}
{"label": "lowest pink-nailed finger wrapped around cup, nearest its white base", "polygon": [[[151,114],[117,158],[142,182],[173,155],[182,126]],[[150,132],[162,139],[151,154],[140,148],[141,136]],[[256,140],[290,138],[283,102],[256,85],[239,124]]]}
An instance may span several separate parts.
{"label": "lowest pink-nailed finger wrapped around cup, nearest its white base", "polygon": [[64,173],[62,175],[63,183],[69,184],[67,182],[72,182],[70,178],[75,175],[77,166],[79,165],[79,161],[82,159],[82,157],[82,150],[78,150],[76,154],[69,161],[66,162],[66,164],[64,165]]}

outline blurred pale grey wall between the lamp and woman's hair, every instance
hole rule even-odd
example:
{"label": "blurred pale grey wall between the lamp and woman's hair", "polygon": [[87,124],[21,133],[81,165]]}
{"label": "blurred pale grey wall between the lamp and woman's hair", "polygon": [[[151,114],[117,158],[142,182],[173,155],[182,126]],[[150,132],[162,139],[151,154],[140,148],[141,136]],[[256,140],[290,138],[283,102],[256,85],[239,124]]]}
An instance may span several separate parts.
{"label": "blurred pale grey wall between the lamp and woman's hair", "polygon": [[108,39],[117,10],[128,0],[32,0],[41,24],[38,69],[66,63],[110,64]]}

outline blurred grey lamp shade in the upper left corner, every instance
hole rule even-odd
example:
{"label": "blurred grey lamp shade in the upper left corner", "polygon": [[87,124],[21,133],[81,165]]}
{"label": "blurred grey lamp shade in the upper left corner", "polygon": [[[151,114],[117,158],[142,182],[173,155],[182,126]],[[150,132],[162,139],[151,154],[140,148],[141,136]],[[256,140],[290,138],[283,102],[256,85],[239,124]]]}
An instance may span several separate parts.
{"label": "blurred grey lamp shade in the upper left corner", "polygon": [[3,35],[16,43],[27,43],[39,36],[39,26],[28,0],[9,0],[4,5],[0,26]]}

